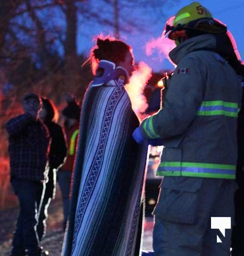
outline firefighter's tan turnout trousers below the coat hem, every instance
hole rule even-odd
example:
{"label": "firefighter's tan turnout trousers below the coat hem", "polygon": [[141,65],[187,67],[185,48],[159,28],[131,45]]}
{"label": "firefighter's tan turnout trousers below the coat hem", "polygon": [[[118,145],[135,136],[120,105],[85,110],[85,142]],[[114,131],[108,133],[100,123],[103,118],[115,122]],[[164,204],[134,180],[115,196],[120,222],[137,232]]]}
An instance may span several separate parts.
{"label": "firefighter's tan turnout trousers below the coat hem", "polygon": [[236,188],[235,180],[164,177],[154,210],[155,255],[230,256],[231,229],[211,229],[211,217],[231,217],[232,227]]}

